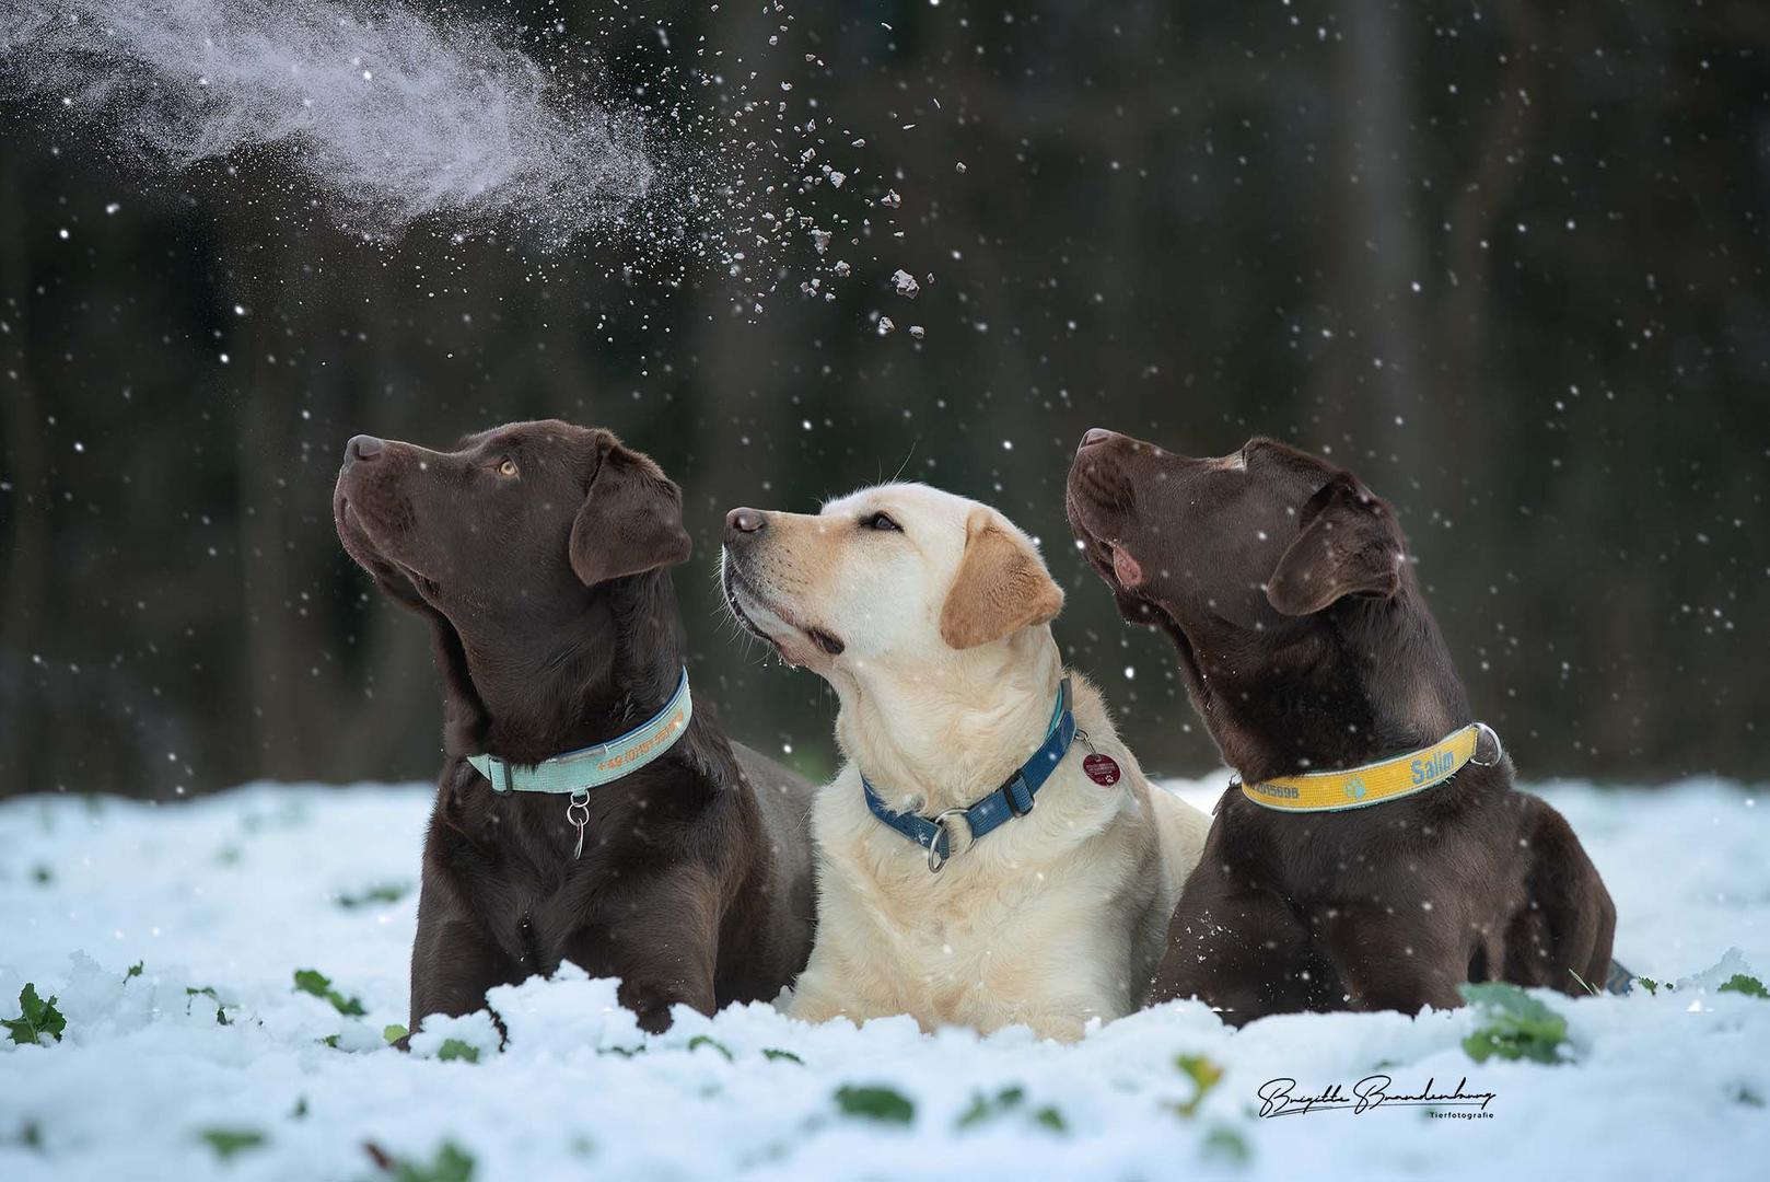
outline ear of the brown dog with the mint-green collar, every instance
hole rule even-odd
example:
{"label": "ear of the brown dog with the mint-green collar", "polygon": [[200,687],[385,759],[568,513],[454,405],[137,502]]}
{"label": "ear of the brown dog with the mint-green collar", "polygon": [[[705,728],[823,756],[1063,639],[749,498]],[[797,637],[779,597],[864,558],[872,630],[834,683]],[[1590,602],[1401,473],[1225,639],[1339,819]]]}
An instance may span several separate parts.
{"label": "ear of the brown dog with the mint-green collar", "polygon": [[572,571],[595,587],[689,560],[681,489],[644,455],[611,443],[572,521]]}

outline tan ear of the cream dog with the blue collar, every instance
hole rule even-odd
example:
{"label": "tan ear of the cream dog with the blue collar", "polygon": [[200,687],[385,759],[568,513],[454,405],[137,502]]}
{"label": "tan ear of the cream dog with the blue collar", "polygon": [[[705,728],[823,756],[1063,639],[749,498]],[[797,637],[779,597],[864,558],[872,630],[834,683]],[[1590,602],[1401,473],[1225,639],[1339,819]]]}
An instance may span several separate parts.
{"label": "tan ear of the cream dog with the blue collar", "polygon": [[975,649],[1030,624],[1048,624],[1062,610],[1064,592],[1039,555],[988,509],[972,510],[959,574],[940,608],[942,640]]}

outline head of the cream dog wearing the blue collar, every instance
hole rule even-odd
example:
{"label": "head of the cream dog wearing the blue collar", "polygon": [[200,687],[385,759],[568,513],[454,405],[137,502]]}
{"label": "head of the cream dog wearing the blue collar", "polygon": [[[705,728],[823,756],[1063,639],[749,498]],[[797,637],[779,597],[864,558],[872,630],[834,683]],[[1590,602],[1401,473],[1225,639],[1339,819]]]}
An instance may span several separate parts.
{"label": "head of the cream dog wearing the blue collar", "polygon": [[862,489],[820,514],[735,509],[720,578],[745,627],[827,679],[935,675],[1064,606],[1014,523],[922,484]]}

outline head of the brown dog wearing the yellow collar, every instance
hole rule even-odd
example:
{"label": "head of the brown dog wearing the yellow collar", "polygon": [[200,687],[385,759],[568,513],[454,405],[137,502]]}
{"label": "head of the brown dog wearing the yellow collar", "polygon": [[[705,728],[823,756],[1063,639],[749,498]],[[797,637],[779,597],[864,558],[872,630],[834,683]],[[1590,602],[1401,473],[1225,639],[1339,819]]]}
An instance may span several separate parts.
{"label": "head of the brown dog wearing the yellow collar", "polygon": [[[1352,473],[1271,439],[1193,459],[1096,427],[1066,509],[1120,615],[1174,638],[1200,704],[1313,661],[1342,611],[1411,581],[1391,509]],[[1207,719],[1228,725],[1220,711]]]}

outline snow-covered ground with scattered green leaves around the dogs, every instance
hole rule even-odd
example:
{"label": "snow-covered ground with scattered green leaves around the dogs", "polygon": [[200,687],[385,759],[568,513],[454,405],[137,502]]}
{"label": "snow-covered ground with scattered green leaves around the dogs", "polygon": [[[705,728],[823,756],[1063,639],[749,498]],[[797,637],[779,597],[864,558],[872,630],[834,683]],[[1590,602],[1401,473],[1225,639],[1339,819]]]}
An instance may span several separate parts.
{"label": "snow-covered ground with scattered green leaves around the dogs", "polygon": [[[1175,787],[1209,806],[1221,783]],[[1770,1001],[1715,985],[1770,971],[1770,801],[1706,782],[1545,794],[1609,883],[1620,959],[1680,982],[1542,994],[1568,1023],[1558,1065],[1471,1061],[1462,1040],[1485,1021],[1471,1008],[1234,1033],[1186,1003],[1060,1047],[1027,1031],[926,1037],[908,1019],[809,1028],[756,1005],[681,1012],[644,1037],[609,982],[573,973],[497,991],[503,1051],[480,1014],[400,1054],[382,1028],[405,1021],[428,789],[12,799],[0,1017],[34,982],[67,1028],[53,1046],[0,1046],[0,1178],[389,1177],[368,1145],[439,1168],[400,1177],[467,1177],[453,1145],[480,1180],[1763,1177]],[[296,969],[327,975],[363,1017],[297,992]],[[437,1058],[450,1038],[478,1061]],[[1179,1056],[1221,1079],[1198,1099],[1211,1067],[1189,1074]],[[1391,1093],[1467,1077],[1464,1092],[1494,1093],[1490,1118],[1257,1115],[1269,1079],[1351,1093],[1372,1074]]]}

